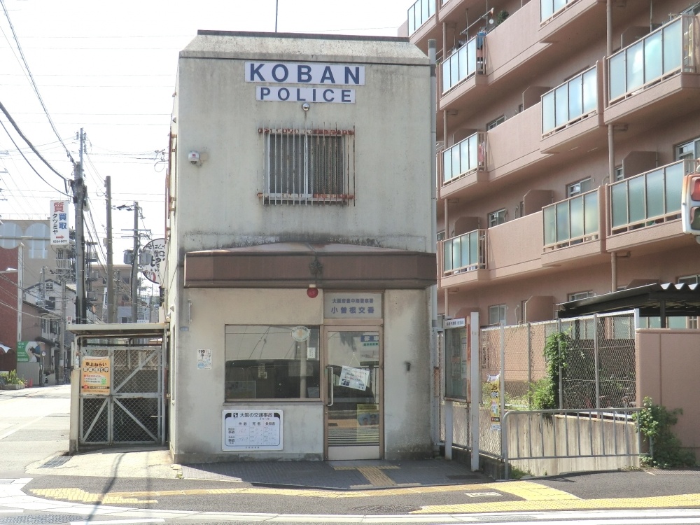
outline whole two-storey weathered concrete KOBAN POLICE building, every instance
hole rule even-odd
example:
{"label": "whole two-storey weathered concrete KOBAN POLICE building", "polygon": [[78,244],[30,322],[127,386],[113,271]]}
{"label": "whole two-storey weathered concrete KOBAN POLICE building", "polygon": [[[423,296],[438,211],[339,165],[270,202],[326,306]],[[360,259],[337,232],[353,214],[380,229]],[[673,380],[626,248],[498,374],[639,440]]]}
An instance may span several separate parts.
{"label": "whole two-storey weathered concrete KOBAN POLICE building", "polygon": [[429,99],[404,38],[199,31],[181,51],[174,461],[433,454]]}

